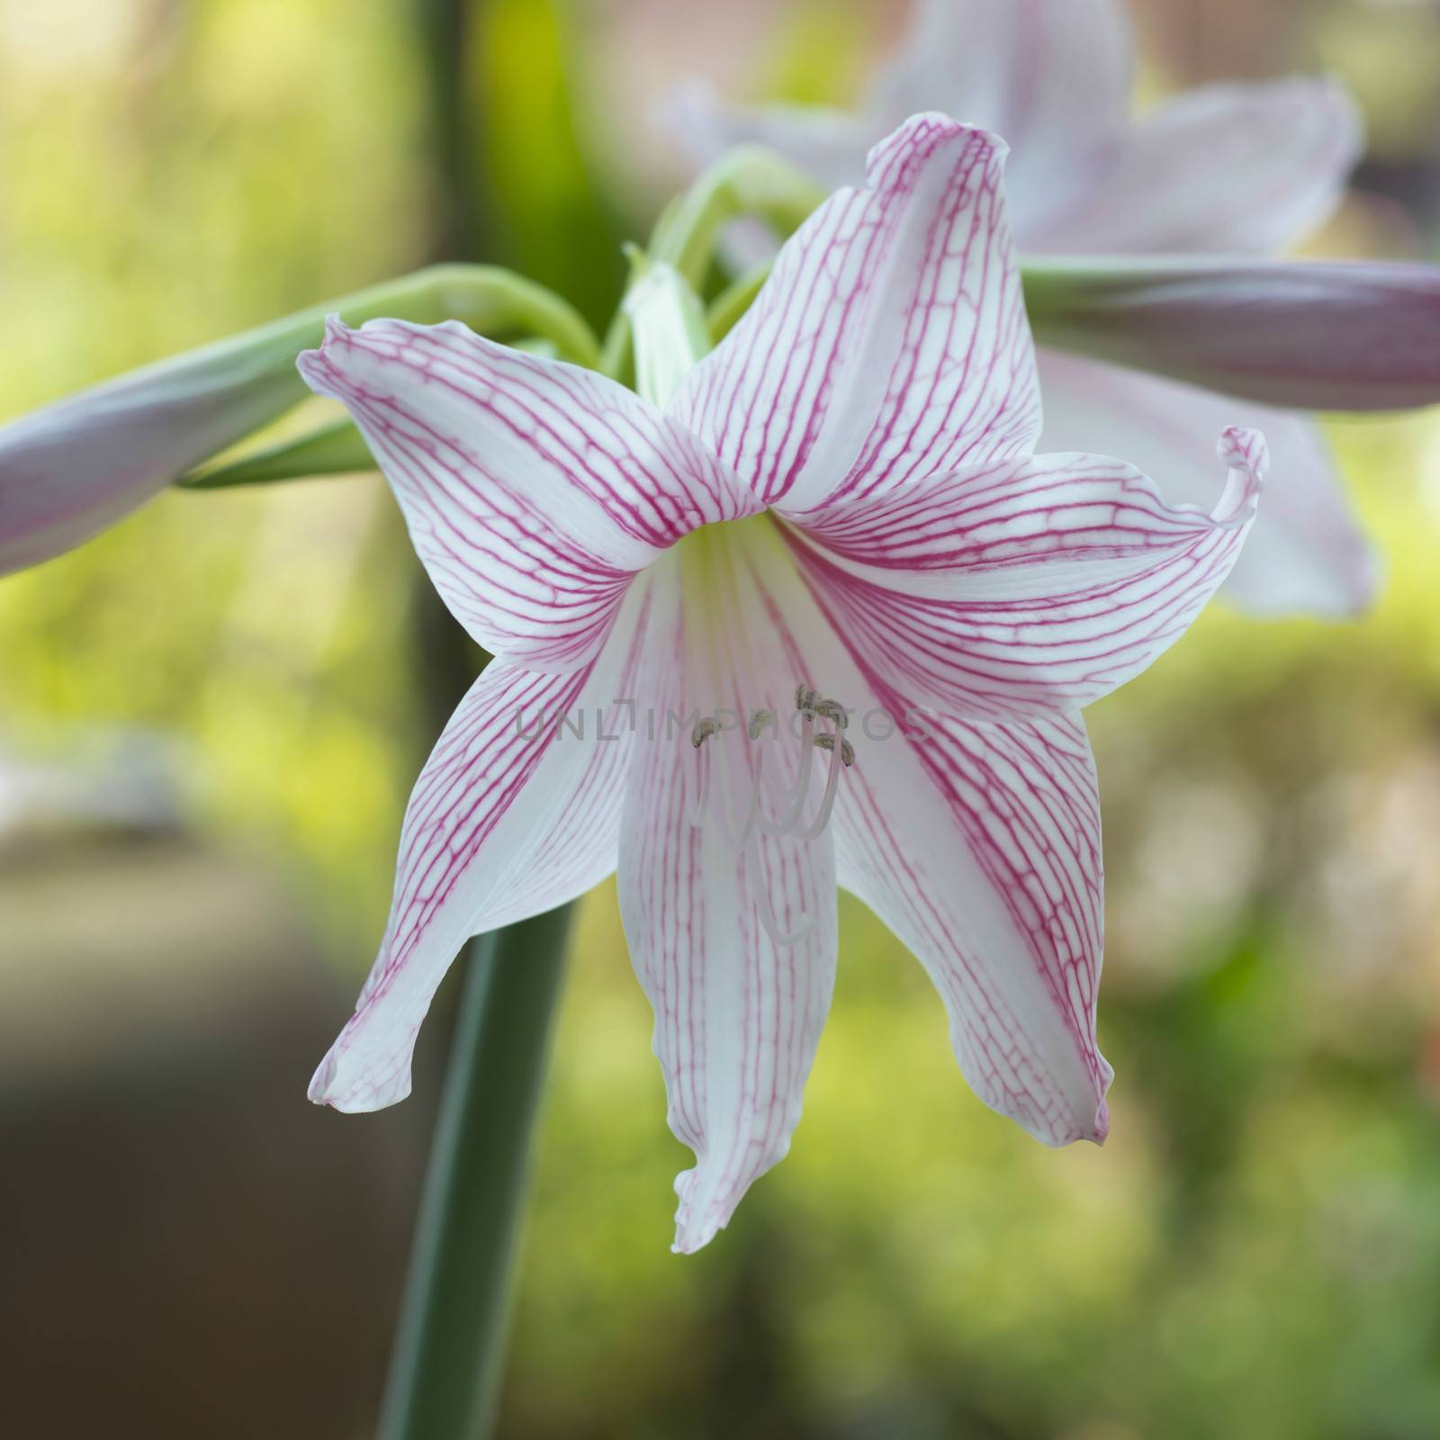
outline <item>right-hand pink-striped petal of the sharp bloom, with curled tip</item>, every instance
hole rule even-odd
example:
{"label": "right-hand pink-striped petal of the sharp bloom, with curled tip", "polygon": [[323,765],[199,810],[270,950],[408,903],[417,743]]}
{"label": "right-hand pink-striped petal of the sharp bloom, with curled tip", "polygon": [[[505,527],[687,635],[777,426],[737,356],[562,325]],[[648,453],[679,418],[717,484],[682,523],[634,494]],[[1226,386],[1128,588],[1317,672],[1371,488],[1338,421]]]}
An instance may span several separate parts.
{"label": "right-hand pink-striped petal of the sharp bloom, with curled tip", "polygon": [[1138,675],[1230,573],[1264,441],[1225,431],[1215,511],[1132,465],[1035,455],[835,511],[795,552],[842,634],[906,694],[978,719],[1068,710]]}

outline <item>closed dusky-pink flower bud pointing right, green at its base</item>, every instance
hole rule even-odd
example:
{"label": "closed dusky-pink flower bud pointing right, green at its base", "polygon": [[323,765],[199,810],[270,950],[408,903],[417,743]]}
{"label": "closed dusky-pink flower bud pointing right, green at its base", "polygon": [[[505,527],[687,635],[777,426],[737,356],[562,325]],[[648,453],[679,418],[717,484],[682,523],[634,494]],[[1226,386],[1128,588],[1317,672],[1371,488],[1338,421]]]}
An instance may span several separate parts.
{"label": "closed dusky-pink flower bud pointing right, green at its base", "polygon": [[1440,266],[1056,261],[1025,268],[1041,344],[1260,405],[1440,402]]}

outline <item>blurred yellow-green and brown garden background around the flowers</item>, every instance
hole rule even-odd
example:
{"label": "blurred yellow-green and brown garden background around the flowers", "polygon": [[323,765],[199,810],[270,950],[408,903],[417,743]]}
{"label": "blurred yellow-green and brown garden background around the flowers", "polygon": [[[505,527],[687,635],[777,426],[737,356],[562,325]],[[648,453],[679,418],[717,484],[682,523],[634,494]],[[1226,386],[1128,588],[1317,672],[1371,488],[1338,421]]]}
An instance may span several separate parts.
{"label": "blurred yellow-green and brown garden background around the flowers", "polygon": [[[1440,7],[1146,0],[1140,92],[1341,73],[1318,246],[1440,258]],[[0,413],[439,256],[603,321],[684,75],[852,96],[899,3],[0,0]],[[1388,580],[1212,608],[1092,711],[1103,1151],[985,1110],[842,912],[791,1158],[668,1253],[649,1014],[576,926],[505,1437],[1440,1434],[1440,415],[1335,422]],[[475,664],[376,477],[170,494],[0,582],[0,1427],[369,1433],[454,984],[415,1097],[304,1099],[416,768]]]}

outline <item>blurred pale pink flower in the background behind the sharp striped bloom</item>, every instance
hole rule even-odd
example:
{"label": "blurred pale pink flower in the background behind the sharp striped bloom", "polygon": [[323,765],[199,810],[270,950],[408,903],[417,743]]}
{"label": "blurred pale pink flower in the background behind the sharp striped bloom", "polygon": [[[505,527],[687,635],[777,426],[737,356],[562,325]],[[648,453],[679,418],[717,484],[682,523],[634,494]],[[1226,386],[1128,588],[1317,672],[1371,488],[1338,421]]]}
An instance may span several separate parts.
{"label": "blurred pale pink flower in the background behind the sharp striped bloom", "polygon": [[[1132,71],[1130,33],[1116,0],[916,0],[899,53],[877,75],[858,114],[730,107],[697,85],[671,96],[665,118],[696,163],[739,141],[759,141],[834,186],[854,177],[870,138],[900,117],[926,105],[946,109],[1009,143],[1011,213],[1027,256],[1263,255],[1303,238],[1333,210],[1361,151],[1359,118],[1338,85],[1322,79],[1212,85],[1133,118]],[[756,232],[740,232],[739,243],[753,258]],[[1110,268],[1123,274],[1120,264]],[[1364,373],[1367,360],[1380,351],[1352,344],[1351,302],[1380,325],[1405,323],[1408,314],[1416,330],[1420,317],[1407,311],[1404,297],[1364,289],[1364,272],[1382,266],[1352,268],[1362,294],[1335,274],[1341,266],[1325,269],[1323,284],[1336,287],[1332,302],[1296,331],[1283,361],[1293,367],[1302,350],[1313,354],[1315,347],[1331,347],[1349,356],[1351,373]],[[1431,336],[1440,311],[1434,276],[1426,274],[1427,310],[1421,311]],[[1224,281],[1218,271],[1210,278]],[[1320,284],[1316,279],[1316,288]],[[1205,298],[1200,291],[1194,310]],[[1391,302],[1377,310],[1377,301],[1387,298]],[[1185,320],[1149,315],[1132,304],[1128,314],[1184,350],[1184,325],[1194,320],[1194,310]],[[1287,318],[1293,314],[1287,311]],[[1261,318],[1269,321],[1261,353],[1274,356],[1289,331],[1276,324],[1273,311]],[[1045,344],[1038,311],[1035,328]],[[1071,331],[1070,340],[1076,338]],[[1246,387],[1263,369],[1257,353],[1247,350],[1253,333],[1234,338],[1230,357],[1248,353],[1250,366],[1225,389],[1254,400],[1267,397],[1261,386]],[[1089,333],[1080,340],[1087,341]],[[1264,615],[1349,615],[1369,602],[1375,560],[1310,416],[1273,405],[1237,405],[1143,373],[1178,369],[1189,379],[1212,379],[1210,372],[1166,366],[1153,350],[1113,348],[1110,359],[1140,369],[1041,350],[1045,448],[1123,455],[1164,477],[1171,498],[1208,504],[1215,495],[1208,464],[1215,431],[1223,423],[1261,429],[1274,459],[1272,500],[1227,592]],[[1418,359],[1421,400],[1440,399],[1440,347],[1431,343]],[[1336,408],[1420,403],[1413,384],[1388,392],[1356,384],[1351,393],[1354,403]],[[1342,399],[1333,386],[1309,399],[1300,387],[1296,397],[1308,409]]]}

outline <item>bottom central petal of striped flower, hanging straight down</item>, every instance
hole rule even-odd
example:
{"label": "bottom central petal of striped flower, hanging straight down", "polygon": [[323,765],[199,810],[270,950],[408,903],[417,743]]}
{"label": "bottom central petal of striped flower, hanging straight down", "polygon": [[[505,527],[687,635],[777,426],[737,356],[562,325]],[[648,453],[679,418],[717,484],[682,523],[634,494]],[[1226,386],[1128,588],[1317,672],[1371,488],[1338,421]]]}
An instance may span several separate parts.
{"label": "bottom central petal of striped flower, hanging straight down", "polygon": [[[642,687],[657,724],[636,746],[619,865],[631,958],[655,1011],[670,1128],[696,1153],[675,1181],[675,1250],[685,1253],[726,1225],[750,1184],[789,1149],[837,950],[829,832],[812,841],[765,835],[737,848],[716,818],[723,804],[732,834],[740,829],[762,752],[773,780],[762,798],[778,818],[798,742],[788,733],[749,740],[736,730],[708,737],[701,752],[688,724],[665,724],[667,716],[717,710],[793,711],[802,662],[783,616],[765,609],[760,573],[775,559],[793,567],[773,539],[756,569],[739,543],[713,544],[721,553],[710,560],[708,585],[697,588],[691,575],[681,590],[671,567],[670,598],[657,596],[670,625],[651,647]],[[737,603],[708,613],[724,593]],[[713,770],[697,827],[703,760]]]}

